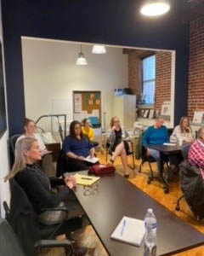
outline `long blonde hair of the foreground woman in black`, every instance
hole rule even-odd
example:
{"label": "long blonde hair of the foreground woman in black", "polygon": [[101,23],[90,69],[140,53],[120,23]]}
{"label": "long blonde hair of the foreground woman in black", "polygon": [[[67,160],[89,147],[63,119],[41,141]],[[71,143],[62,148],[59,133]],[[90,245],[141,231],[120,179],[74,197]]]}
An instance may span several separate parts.
{"label": "long blonde hair of the foreground woman in black", "polygon": [[33,143],[37,142],[35,138],[24,137],[20,139],[15,145],[15,160],[12,171],[4,177],[4,182],[13,178],[18,172],[23,171],[26,168],[26,156],[24,154],[25,150],[30,150]]}

